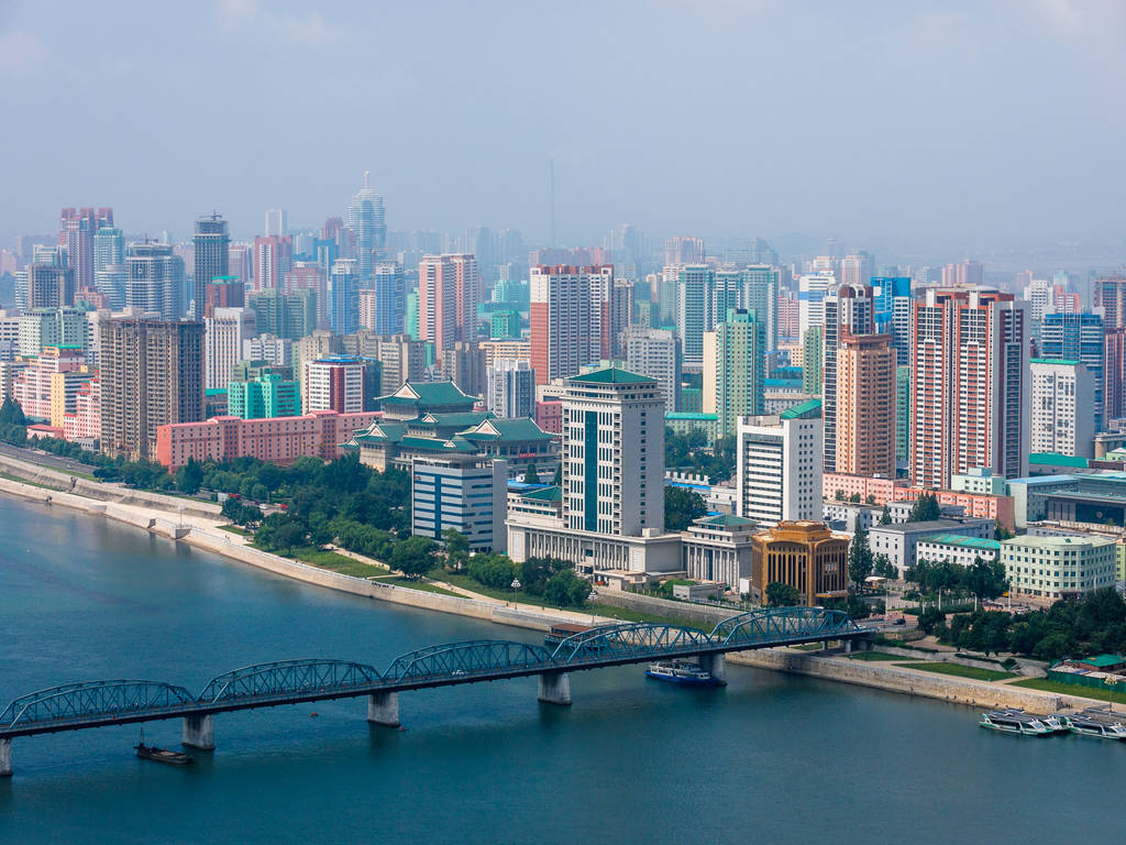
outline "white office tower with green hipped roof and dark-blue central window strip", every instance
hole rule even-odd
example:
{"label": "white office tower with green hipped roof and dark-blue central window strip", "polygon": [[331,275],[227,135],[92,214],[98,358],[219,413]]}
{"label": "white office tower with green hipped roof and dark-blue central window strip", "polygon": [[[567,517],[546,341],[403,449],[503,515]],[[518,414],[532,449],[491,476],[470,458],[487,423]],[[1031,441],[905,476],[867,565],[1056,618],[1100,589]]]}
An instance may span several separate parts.
{"label": "white office tower with green hipped roof and dark-blue central window strip", "polygon": [[572,531],[664,531],[664,397],[653,379],[599,370],[566,380],[563,521]]}

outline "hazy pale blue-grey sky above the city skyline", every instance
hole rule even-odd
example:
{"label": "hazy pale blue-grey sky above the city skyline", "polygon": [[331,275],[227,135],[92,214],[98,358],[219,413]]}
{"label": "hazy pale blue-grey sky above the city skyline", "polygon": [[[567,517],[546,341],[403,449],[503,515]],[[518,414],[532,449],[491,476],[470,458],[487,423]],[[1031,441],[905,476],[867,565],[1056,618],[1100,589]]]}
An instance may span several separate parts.
{"label": "hazy pale blue-grey sky above the city skyline", "polygon": [[1123,242],[1126,2],[0,0],[0,242],[113,205]]}

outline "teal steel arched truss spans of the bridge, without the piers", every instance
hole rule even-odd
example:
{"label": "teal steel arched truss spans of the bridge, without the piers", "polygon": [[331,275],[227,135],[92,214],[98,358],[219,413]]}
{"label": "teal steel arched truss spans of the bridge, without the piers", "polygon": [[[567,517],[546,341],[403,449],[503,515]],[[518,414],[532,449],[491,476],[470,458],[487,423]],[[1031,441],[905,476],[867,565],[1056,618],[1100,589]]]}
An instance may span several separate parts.
{"label": "teal steel arched truss spans of the bridge, without the piers", "polygon": [[379,691],[593,669],[664,657],[848,639],[864,633],[841,611],[779,607],[724,620],[711,633],[647,622],[601,625],[569,637],[554,650],[509,640],[444,643],[401,655],[382,673],[374,666],[345,660],[258,664],[212,678],[198,696],[182,686],[154,681],[92,681],[14,700],[0,712],[0,739]]}

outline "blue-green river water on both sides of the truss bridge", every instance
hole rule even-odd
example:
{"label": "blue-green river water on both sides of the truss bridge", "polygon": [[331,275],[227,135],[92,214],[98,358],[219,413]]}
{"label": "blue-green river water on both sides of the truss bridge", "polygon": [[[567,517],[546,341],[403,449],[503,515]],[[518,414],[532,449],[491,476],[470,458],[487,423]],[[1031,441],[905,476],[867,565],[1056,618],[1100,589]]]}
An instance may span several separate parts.
{"label": "blue-green river water on both sides of the truss bridge", "polygon": [[[0,706],[55,684],[197,692],[249,664],[383,667],[420,646],[527,631],[297,584],[61,508],[0,499]],[[11,843],[1114,842],[1126,748],[1021,739],[976,712],[729,664],[722,690],[580,673],[215,718],[196,764],[138,760],[138,729],[12,741]],[[311,713],[315,710],[316,718]],[[179,721],[145,728],[178,747]]]}

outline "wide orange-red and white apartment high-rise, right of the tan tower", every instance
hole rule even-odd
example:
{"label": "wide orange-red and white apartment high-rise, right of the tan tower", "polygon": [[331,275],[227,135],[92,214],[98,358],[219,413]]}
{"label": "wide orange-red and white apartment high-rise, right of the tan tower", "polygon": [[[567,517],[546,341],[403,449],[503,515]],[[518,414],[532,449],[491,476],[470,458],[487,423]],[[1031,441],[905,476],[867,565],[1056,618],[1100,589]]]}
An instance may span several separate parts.
{"label": "wide orange-red and white apartment high-rise, right of the tan tower", "polygon": [[1027,303],[991,290],[930,288],[914,303],[911,474],[946,489],[989,469],[1028,474]]}

